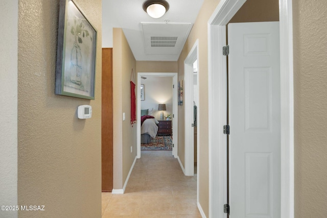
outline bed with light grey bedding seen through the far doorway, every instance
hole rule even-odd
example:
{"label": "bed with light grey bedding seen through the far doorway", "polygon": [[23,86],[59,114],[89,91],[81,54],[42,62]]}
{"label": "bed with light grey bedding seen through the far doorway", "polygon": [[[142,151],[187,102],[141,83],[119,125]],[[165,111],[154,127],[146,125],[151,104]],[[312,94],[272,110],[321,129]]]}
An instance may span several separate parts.
{"label": "bed with light grey bedding seen through the far doorway", "polygon": [[[153,111],[153,109],[151,110]],[[141,143],[150,143],[158,132],[157,124],[159,122],[152,116],[151,110],[141,110]]]}

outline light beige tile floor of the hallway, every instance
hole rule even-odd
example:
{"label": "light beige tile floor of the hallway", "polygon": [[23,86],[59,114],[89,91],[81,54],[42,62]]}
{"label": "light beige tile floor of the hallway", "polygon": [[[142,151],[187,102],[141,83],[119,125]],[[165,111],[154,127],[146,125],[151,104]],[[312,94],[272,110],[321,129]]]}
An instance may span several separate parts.
{"label": "light beige tile floor of the hallway", "polygon": [[196,175],[184,176],[169,151],[142,151],[123,195],[102,192],[102,217],[200,218]]}

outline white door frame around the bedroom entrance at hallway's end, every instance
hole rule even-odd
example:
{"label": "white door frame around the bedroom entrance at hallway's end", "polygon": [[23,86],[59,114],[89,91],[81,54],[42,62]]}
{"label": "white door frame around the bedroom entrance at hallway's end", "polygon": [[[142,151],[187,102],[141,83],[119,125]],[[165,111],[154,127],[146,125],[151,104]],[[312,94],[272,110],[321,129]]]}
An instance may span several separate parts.
{"label": "white door frame around the bedroom entrance at hallway's end", "polygon": [[[178,151],[178,101],[177,101],[177,72],[137,72],[137,120],[141,120],[141,98],[138,96],[141,95],[141,77],[172,77],[173,78],[173,156],[177,158]],[[137,139],[137,154],[136,158],[141,158],[141,122],[136,123],[136,139]]]}

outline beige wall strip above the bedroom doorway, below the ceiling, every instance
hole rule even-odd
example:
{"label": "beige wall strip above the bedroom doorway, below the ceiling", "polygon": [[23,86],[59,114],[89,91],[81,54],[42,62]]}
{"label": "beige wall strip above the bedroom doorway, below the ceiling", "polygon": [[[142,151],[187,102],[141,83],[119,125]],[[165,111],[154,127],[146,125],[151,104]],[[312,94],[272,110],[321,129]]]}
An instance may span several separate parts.
{"label": "beige wall strip above the bedroom doorway, below the ceiling", "polygon": [[177,61],[136,61],[137,72],[177,72]]}

